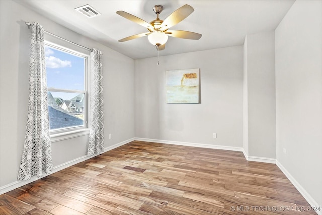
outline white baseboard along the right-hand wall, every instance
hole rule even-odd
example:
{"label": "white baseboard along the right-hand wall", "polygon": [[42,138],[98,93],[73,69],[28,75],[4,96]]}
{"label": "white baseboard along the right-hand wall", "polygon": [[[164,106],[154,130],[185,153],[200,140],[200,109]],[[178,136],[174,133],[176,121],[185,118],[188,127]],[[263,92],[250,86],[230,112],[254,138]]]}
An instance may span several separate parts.
{"label": "white baseboard along the right-hand wall", "polygon": [[295,178],[285,169],[285,167],[276,160],[276,165],[280,170],[286,175],[288,180],[294,185],[294,187],[301,193],[301,195],[305,198],[305,200],[314,208],[320,208],[320,211],[316,211],[318,215],[322,215],[322,206],[319,205],[314,198],[295,180]]}

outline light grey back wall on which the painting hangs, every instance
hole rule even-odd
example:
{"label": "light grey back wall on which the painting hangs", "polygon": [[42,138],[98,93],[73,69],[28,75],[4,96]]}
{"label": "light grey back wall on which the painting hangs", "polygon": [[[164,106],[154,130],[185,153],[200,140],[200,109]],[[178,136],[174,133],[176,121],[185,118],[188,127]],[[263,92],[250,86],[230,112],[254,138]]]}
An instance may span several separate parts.
{"label": "light grey back wall on which the painting hangs", "polygon": [[[171,47],[169,47],[171,48]],[[200,104],[167,104],[166,70],[200,69]],[[242,147],[243,46],[135,60],[138,138]],[[217,138],[213,138],[217,133]]]}

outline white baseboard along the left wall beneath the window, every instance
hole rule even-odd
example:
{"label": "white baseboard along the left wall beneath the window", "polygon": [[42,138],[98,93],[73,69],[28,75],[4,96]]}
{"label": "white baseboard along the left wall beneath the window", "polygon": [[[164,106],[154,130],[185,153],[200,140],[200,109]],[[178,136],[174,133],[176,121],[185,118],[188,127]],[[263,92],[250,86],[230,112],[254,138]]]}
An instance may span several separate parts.
{"label": "white baseboard along the left wall beneath the window", "polygon": [[[131,141],[133,141],[133,140],[134,140],[134,138],[131,138],[131,139],[128,139],[128,140],[122,141],[122,142],[120,142],[120,143],[114,144],[114,145],[112,145],[112,146],[106,147],[106,148],[104,148],[104,152],[107,152],[107,151],[109,151],[109,150],[115,149],[115,148],[117,148],[117,147],[119,147],[119,146],[122,146],[122,145],[124,145],[124,144],[127,144],[127,143],[129,143],[129,142],[131,142]],[[90,158],[92,158],[92,157],[89,157],[89,156],[87,156],[87,155],[84,155],[84,156],[82,156],[82,157],[79,157],[79,158],[73,159],[73,160],[68,161],[68,162],[66,162],[66,163],[63,163],[63,164],[60,164],[60,165],[54,166],[54,167],[53,167],[53,171],[52,171],[52,173],[51,173],[51,174],[53,174],[53,173],[55,173],[55,172],[58,172],[58,171],[60,171],[60,170],[63,170],[63,169],[65,169],[65,168],[67,168],[67,167],[70,167],[70,166],[72,166],[72,165],[75,165],[75,164],[77,164],[77,163],[83,162],[83,161],[85,161],[85,160],[87,160],[87,159],[90,159]],[[29,183],[31,183],[31,182],[34,182],[34,181],[36,181],[36,180],[38,180],[38,179],[44,178],[44,177],[46,177],[46,176],[48,176],[48,175],[50,175],[50,174],[43,173],[43,176],[42,176],[42,177],[40,177],[40,178],[38,178],[37,176],[34,176],[34,177],[32,177],[31,179],[29,179],[28,181],[15,181],[15,182],[12,182],[12,183],[7,184],[7,185],[5,185],[5,186],[2,186],[2,187],[0,187],[0,195],[1,195],[1,194],[4,194],[4,193],[6,193],[6,192],[9,192],[9,191],[11,191],[11,190],[17,189],[17,188],[19,188],[19,187],[21,187],[21,186],[24,186],[24,185],[26,185],[26,184],[29,184]]]}

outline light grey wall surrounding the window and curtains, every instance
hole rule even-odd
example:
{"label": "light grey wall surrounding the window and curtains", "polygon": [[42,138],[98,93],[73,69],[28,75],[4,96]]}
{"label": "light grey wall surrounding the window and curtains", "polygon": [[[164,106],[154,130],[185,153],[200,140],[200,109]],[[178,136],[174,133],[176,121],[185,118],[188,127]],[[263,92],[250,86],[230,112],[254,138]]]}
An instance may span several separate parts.
{"label": "light grey wall surrounding the window and curtains", "polygon": [[[105,148],[134,137],[134,60],[64,28],[13,1],[0,0],[0,188],[15,183],[28,107],[30,29],[46,31],[103,52]],[[112,134],[112,139],[108,139]],[[88,135],[52,143],[54,167],[87,153]]]}

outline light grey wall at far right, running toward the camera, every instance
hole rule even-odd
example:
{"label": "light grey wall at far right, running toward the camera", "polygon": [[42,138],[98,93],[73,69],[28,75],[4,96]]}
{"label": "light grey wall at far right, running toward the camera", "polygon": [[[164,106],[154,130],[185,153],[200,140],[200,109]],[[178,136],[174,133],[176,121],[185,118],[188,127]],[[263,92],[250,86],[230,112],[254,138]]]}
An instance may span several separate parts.
{"label": "light grey wall at far right, running toward the camera", "polygon": [[297,0],[275,41],[277,160],[322,206],[322,1]]}

